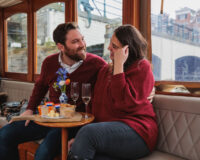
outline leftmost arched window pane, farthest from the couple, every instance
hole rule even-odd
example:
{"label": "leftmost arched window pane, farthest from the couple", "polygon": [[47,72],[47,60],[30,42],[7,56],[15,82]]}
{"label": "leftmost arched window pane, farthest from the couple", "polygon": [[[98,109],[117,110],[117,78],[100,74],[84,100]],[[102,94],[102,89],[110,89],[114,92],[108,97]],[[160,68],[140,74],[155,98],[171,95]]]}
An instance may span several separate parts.
{"label": "leftmost arched window pane, farthest from the couple", "polygon": [[8,72],[27,73],[27,14],[7,19]]}

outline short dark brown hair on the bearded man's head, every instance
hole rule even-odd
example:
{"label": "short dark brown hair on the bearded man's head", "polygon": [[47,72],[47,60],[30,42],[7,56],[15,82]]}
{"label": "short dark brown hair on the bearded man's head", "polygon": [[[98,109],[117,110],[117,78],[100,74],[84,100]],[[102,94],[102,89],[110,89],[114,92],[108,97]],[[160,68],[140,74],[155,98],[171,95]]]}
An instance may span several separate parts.
{"label": "short dark brown hair on the bearded man's head", "polygon": [[72,29],[78,29],[78,25],[75,22],[68,22],[59,24],[56,29],[53,31],[53,40],[54,42],[61,43],[65,45],[66,35]]}

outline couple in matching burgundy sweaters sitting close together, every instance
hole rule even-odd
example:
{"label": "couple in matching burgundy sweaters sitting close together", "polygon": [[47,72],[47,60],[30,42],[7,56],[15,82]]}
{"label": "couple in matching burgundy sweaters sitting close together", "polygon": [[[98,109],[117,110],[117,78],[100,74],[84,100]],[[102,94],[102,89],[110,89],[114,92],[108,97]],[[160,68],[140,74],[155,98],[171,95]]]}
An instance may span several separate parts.
{"label": "couple in matching burgundy sweaters sitting close together", "polygon": [[[108,47],[111,65],[86,53],[84,37],[75,23],[58,25],[53,38],[60,53],[44,60],[22,116],[33,114],[48,90],[50,100],[59,102],[60,92],[54,90],[53,83],[56,71],[63,67],[72,82],[92,84],[90,111],[95,116],[94,123],[69,131],[68,159],[133,160],[148,155],[155,147],[158,130],[156,115],[148,100],[154,78],[144,58],[147,43],[141,33],[131,25],[120,26],[114,31]],[[69,96],[69,88],[66,90]],[[77,106],[78,111],[84,110],[80,98]],[[0,129],[0,159],[19,159],[18,144],[41,138],[44,140],[35,160],[53,160],[61,150],[60,129],[42,127],[32,121],[4,126]]]}

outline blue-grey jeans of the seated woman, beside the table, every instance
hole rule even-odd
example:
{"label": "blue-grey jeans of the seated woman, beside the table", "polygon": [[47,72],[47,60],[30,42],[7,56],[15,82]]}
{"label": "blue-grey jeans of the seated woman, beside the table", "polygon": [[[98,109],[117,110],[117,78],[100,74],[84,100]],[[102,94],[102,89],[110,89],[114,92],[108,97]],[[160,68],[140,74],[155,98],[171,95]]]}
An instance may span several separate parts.
{"label": "blue-grey jeans of the seated woman, beside the table", "polygon": [[101,122],[79,130],[71,153],[79,159],[135,160],[150,151],[144,140],[125,123]]}

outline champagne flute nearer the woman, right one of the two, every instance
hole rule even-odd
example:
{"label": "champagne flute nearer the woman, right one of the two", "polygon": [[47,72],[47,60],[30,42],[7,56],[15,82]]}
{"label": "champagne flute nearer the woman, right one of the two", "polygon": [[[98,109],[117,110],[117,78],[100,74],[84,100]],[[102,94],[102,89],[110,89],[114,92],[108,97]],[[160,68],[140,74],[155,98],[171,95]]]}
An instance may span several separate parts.
{"label": "champagne flute nearer the woman, right one of the two", "polygon": [[87,115],[87,107],[88,103],[90,102],[91,99],[91,84],[90,83],[83,83],[82,84],[82,100],[85,103],[85,118],[88,118]]}

